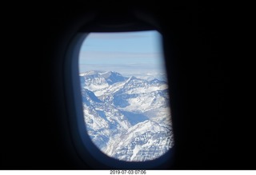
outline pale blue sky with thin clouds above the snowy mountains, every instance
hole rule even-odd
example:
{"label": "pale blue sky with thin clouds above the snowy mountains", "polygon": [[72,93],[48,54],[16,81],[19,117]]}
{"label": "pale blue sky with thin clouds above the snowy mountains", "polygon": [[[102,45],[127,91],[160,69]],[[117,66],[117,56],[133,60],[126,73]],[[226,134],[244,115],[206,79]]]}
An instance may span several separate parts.
{"label": "pale blue sky with thin clouds above the snowy mountains", "polygon": [[161,34],[157,31],[90,33],[82,43],[79,70],[120,74],[164,74]]}

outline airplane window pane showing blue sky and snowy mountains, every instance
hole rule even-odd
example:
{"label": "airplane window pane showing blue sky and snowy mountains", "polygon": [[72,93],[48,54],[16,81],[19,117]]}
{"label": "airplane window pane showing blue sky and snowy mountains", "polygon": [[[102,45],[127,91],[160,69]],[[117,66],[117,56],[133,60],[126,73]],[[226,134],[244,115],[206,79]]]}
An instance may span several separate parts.
{"label": "airplane window pane showing blue sky and snowy mountains", "polygon": [[174,145],[161,37],[156,30],[90,33],[82,42],[86,132],[109,157],[151,161]]}

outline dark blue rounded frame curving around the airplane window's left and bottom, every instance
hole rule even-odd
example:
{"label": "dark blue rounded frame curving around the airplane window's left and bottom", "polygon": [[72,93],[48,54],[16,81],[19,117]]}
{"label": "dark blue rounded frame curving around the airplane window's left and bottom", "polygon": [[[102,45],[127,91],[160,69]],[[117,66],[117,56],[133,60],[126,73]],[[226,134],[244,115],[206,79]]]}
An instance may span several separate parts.
{"label": "dark blue rounded frame curving around the airplane window's left and bottom", "polygon": [[[73,141],[74,149],[78,156],[86,165],[94,169],[166,169],[173,164],[174,147],[171,148],[161,157],[152,161],[119,161],[112,157],[108,157],[102,153],[96,145],[91,141],[90,136],[86,132],[84,117],[82,111],[82,95],[80,89],[80,79],[78,71],[79,52],[82,42],[90,32],[124,32],[124,31],[143,31],[157,30],[154,26],[143,26],[144,22],[139,25],[126,26],[82,26],[80,30],[74,31],[74,37],[68,43],[65,60],[64,60],[64,88],[66,93],[66,107],[68,112],[68,120],[70,122],[70,134]],[[160,34],[161,32],[157,30]],[[164,37],[164,36],[162,36]],[[83,134],[83,135],[82,135]],[[167,164],[167,165],[166,165]]]}

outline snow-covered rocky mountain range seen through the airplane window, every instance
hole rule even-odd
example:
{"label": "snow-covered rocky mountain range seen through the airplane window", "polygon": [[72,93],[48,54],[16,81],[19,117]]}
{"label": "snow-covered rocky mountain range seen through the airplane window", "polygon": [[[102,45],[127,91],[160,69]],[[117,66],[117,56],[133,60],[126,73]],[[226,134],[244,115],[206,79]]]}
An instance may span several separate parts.
{"label": "snow-covered rocky mountain range seen through the airplane window", "polygon": [[174,145],[168,86],[109,71],[80,74],[86,129],[103,153],[149,161]]}

